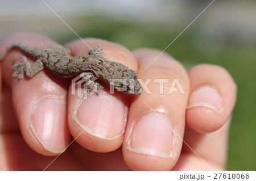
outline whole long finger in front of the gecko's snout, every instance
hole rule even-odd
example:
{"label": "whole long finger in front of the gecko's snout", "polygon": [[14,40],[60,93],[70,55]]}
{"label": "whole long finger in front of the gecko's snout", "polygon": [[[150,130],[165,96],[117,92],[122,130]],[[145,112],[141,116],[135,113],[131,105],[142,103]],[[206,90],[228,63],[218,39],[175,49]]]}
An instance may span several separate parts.
{"label": "whole long finger in front of the gecko's snout", "polygon": [[133,170],[170,170],[182,146],[188,75],[179,62],[164,53],[159,56],[158,50],[142,49],[134,54],[139,77],[143,82],[151,80],[142,95],[131,100],[123,157]]}

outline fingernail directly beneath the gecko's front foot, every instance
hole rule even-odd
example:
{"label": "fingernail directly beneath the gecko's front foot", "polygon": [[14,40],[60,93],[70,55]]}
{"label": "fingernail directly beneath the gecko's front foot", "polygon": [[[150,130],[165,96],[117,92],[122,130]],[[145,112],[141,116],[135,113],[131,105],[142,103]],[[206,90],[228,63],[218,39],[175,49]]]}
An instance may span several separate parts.
{"label": "fingernail directly beneath the gecko's front foot", "polygon": [[127,107],[121,100],[101,92],[83,100],[75,120],[91,136],[114,140],[125,131]]}

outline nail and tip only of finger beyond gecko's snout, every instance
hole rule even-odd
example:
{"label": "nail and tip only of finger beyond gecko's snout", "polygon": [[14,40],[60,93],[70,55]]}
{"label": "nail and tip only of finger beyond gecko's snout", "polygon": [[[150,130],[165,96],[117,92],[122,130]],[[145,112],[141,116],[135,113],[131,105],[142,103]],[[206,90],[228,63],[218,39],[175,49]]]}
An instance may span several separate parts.
{"label": "nail and tip only of finger beyond gecko's snout", "polygon": [[170,170],[175,165],[181,143],[173,140],[170,122],[166,116],[150,113],[127,126],[123,158],[131,169]]}

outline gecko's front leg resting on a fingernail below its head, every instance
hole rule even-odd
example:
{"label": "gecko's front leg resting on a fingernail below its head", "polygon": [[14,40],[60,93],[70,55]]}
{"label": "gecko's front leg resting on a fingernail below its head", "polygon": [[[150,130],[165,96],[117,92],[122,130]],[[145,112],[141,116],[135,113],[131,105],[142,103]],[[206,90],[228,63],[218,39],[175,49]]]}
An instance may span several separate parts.
{"label": "gecko's front leg resting on a fingernail below its head", "polygon": [[85,95],[88,95],[89,91],[93,91],[94,94],[98,95],[98,91],[97,90],[104,89],[104,87],[101,86],[100,83],[94,82],[94,81],[90,80],[90,79],[92,79],[94,77],[93,73],[91,73],[91,72],[84,72],[84,73],[80,74],[80,77],[86,83],[86,86],[87,86],[87,90],[85,92]]}

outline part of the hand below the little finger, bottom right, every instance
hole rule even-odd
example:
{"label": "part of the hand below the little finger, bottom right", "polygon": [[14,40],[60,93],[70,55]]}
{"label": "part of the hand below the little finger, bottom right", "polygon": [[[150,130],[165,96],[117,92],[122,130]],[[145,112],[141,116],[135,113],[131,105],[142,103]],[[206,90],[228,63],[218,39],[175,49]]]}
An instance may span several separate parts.
{"label": "part of the hand below the little finger, bottom right", "polygon": [[225,170],[229,126],[230,119],[217,131],[207,134],[186,127],[184,141],[190,148],[183,145],[172,170]]}

